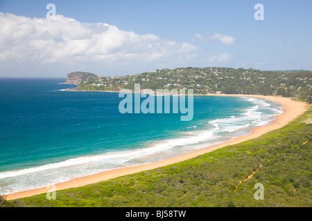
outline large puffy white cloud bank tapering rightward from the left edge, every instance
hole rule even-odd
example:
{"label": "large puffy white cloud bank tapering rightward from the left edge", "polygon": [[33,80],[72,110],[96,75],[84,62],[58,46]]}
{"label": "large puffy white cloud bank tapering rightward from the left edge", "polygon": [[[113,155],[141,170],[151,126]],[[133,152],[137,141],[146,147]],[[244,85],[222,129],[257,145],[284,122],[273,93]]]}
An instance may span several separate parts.
{"label": "large puffy white cloud bank tapering rightward from the left edge", "polygon": [[196,53],[188,43],[119,30],[107,23],[81,23],[62,15],[55,21],[0,13],[0,61],[150,61]]}

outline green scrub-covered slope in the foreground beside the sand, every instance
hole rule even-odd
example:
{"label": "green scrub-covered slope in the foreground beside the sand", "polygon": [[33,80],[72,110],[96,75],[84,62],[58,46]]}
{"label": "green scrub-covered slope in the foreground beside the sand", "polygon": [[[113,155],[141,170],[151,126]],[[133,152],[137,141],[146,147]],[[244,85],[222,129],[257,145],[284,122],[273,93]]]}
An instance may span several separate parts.
{"label": "green scrub-covered slope in the foreground beside the sand", "polygon": [[[311,118],[308,111],[254,140],[159,169],[58,191],[56,200],[46,200],[42,194],[17,202],[21,206],[312,206],[312,124],[303,122]],[[260,164],[259,171],[234,192]],[[254,199],[256,183],[264,185],[264,200]]]}

